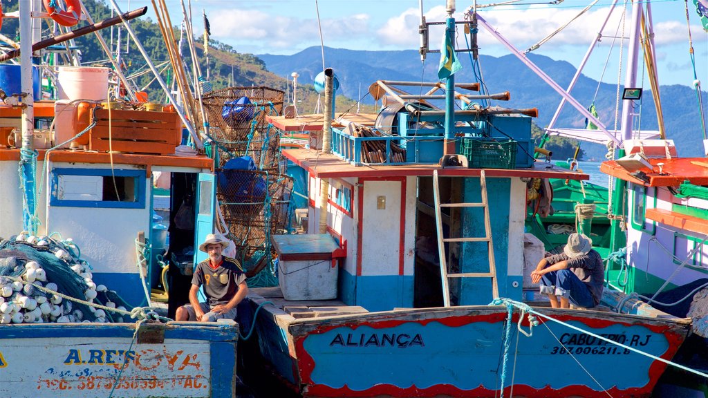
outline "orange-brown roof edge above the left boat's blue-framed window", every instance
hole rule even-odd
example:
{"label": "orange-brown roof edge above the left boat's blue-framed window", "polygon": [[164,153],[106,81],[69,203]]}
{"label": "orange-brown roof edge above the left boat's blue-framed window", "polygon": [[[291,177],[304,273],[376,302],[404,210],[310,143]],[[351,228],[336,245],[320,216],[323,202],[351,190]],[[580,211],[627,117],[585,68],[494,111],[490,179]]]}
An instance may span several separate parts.
{"label": "orange-brown roof edge above the left boat's blue-framed window", "polygon": [[[38,159],[44,159],[45,152],[45,150],[40,150]],[[0,149],[0,161],[19,160],[19,149]],[[47,160],[55,163],[110,164],[111,162],[110,154],[107,152],[75,152],[65,149],[55,149],[50,152]],[[214,160],[205,156],[181,157],[174,155],[113,154],[113,163],[145,166],[148,174],[152,166],[191,167],[214,170]]]}

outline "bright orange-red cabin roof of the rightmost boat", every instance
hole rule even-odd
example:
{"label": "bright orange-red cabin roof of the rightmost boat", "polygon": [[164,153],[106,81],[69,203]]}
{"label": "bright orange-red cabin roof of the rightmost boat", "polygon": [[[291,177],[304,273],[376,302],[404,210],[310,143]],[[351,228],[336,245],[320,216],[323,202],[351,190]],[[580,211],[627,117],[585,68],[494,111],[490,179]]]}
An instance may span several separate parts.
{"label": "bright orange-red cabin roof of the rightmost boat", "polygon": [[[643,176],[639,174],[644,180],[634,174],[634,171],[624,169],[614,160],[603,161],[600,171],[620,180],[644,186],[678,186],[686,180],[695,185],[708,185],[708,161],[705,158],[660,158],[649,159],[649,163],[653,166],[651,170],[648,167],[639,170],[644,173]],[[659,174],[659,163],[663,163],[661,174]]]}

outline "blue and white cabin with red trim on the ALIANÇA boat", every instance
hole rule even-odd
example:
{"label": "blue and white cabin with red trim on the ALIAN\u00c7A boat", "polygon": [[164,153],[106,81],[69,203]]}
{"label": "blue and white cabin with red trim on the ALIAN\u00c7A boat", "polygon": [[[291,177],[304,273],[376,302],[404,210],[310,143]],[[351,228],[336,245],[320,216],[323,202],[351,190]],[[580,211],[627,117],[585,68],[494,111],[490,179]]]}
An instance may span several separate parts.
{"label": "blue and white cabin with red trim on the ALIAN\u00c7A boat", "polygon": [[[443,115],[425,115],[413,123],[401,108],[389,110],[397,114],[387,130],[404,126],[394,127],[392,135],[378,132],[386,110],[337,115],[332,154],[313,150],[321,142],[321,116],[269,118],[284,134],[309,132],[312,145],[282,152],[291,162],[288,174],[308,181],[309,198],[307,217],[301,217],[309,234],[273,237],[282,292],[300,292],[291,297],[301,298],[292,300],[332,299],[337,292],[345,305],[368,311],[441,307],[447,300],[448,305],[487,305],[495,295],[521,300],[527,181],[588,176],[533,161],[531,123],[525,116],[459,117],[455,153],[468,156],[440,164]],[[455,206],[461,203],[477,205]],[[336,242],[329,256],[323,256],[321,240],[313,234],[327,234]],[[446,239],[442,247],[441,235]],[[331,263],[338,263],[336,279],[326,276]],[[457,277],[441,278],[441,268]],[[479,275],[486,277],[467,277]],[[449,297],[442,288],[445,279]],[[319,297],[307,294],[309,285],[314,289],[335,281],[336,290]]]}

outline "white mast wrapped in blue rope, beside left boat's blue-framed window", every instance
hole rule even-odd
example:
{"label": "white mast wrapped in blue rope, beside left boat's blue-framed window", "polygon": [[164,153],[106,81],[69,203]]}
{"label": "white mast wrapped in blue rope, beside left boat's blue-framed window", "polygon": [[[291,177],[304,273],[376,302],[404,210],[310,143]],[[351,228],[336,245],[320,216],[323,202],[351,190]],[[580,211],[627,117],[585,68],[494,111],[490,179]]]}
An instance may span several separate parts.
{"label": "white mast wrapped in blue rope, beside left boat's blue-framed window", "polygon": [[33,221],[35,214],[35,173],[36,155],[33,143],[35,132],[34,89],[32,69],[32,4],[20,1],[20,64],[22,101],[22,149],[20,149],[20,169],[23,191],[22,228],[30,234],[37,233]]}

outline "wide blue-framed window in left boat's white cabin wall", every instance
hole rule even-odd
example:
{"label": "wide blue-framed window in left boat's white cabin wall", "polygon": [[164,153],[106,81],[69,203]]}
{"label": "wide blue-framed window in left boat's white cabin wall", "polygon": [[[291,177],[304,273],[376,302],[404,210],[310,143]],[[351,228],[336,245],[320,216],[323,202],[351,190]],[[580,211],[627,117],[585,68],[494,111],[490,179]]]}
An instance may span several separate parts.
{"label": "wide blue-framed window in left boat's white cabin wall", "polygon": [[50,205],[145,208],[145,171],[55,169]]}

